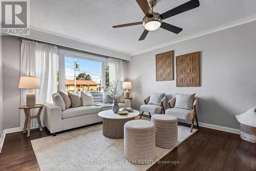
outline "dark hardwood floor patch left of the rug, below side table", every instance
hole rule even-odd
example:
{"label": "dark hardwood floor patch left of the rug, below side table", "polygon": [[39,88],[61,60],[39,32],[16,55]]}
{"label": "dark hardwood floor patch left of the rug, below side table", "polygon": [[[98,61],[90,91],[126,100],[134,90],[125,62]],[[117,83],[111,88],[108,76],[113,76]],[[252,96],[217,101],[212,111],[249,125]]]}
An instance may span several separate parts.
{"label": "dark hardwood floor patch left of the rug, below side table", "polygon": [[5,142],[0,153],[0,170],[30,170],[39,171],[31,140],[50,136],[50,132],[43,127],[43,131],[33,129],[30,138],[23,132],[6,134]]}

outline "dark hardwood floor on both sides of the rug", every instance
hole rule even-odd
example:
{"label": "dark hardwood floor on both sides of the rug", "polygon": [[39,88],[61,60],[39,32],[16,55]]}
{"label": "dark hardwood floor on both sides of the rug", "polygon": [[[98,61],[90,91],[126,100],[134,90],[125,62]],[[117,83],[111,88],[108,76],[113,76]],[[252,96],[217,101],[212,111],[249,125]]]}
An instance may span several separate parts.
{"label": "dark hardwood floor on both sides of the rug", "polygon": [[[22,132],[7,134],[0,153],[0,170],[34,170],[39,167],[30,140],[50,136],[47,129],[31,130],[30,138]],[[57,135],[58,136],[58,135]],[[161,162],[148,170],[256,170],[256,144],[239,135],[200,127]]]}

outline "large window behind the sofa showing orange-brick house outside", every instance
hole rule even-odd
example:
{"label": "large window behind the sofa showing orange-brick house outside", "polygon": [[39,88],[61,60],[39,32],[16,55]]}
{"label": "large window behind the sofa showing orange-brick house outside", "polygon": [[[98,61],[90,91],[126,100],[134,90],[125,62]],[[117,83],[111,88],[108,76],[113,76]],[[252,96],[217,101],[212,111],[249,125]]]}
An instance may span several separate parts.
{"label": "large window behind the sofa showing orange-brick house outside", "polygon": [[59,56],[60,91],[101,91],[101,86],[105,87],[105,67],[102,66],[106,59],[86,58],[77,53],[59,53]]}

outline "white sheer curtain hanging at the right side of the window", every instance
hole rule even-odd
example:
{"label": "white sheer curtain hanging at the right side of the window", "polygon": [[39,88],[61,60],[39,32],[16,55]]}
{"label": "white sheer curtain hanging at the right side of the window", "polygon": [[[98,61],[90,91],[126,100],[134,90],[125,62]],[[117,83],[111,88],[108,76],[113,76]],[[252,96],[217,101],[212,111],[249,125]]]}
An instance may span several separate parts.
{"label": "white sheer curtain hanging at the right side of the window", "polygon": [[118,87],[122,90],[123,83],[123,61],[121,59],[109,58],[110,81],[118,80]]}

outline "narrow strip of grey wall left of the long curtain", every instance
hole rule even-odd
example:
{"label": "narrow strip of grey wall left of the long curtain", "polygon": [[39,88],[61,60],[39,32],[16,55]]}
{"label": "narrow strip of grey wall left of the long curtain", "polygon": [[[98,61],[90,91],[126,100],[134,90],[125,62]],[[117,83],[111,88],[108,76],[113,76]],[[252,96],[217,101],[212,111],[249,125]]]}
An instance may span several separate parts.
{"label": "narrow strip of grey wall left of the long curtain", "polygon": [[20,124],[20,41],[15,36],[2,36],[2,42],[4,129],[10,129]]}

